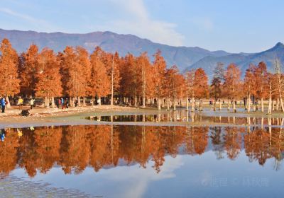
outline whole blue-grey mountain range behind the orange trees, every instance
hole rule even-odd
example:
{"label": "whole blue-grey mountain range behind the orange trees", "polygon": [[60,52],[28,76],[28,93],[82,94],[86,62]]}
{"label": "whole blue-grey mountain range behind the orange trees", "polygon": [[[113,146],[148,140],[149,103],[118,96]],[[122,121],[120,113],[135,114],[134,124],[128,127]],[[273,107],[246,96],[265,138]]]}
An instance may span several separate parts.
{"label": "whole blue-grey mountain range behind the orange trees", "polygon": [[141,52],[148,52],[149,57],[153,60],[152,55],[157,50],[161,50],[168,66],[176,64],[182,72],[202,67],[209,78],[212,78],[212,71],[217,62],[223,62],[225,65],[237,64],[240,66],[243,76],[249,64],[258,64],[258,62],[264,61],[268,65],[268,70],[273,71],[275,57],[278,57],[280,62],[284,62],[284,45],[281,42],[263,52],[236,54],[224,50],[209,51],[200,47],[173,47],[151,42],[151,40],[135,35],[121,35],[109,31],[70,34],[0,29],[0,40],[4,38],[11,41],[18,53],[26,51],[31,44],[38,45],[40,50],[49,47],[55,52],[64,50],[67,45],[82,46],[89,52],[100,46],[107,52],[117,51],[121,56],[129,52],[136,56]]}

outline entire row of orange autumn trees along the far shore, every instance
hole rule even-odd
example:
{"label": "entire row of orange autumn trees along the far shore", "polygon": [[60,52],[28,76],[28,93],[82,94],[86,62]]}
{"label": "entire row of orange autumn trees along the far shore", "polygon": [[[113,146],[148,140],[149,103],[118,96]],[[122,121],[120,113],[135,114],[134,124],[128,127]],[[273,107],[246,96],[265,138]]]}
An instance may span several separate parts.
{"label": "entire row of orange autumn trees along the far shore", "polygon": [[[53,50],[45,48],[39,52],[36,45],[31,45],[26,52],[18,56],[9,40],[4,39],[0,47],[0,94],[23,95],[25,97],[45,98],[45,105],[54,98],[62,95],[70,97],[73,105],[75,98],[86,97],[109,98],[114,104],[114,98],[119,103],[130,105],[156,105],[158,110],[163,107],[173,107],[176,103],[186,99],[186,107],[195,110],[199,100],[202,110],[202,99],[214,98],[214,110],[221,98],[228,100],[228,110],[236,111],[236,100],[244,100],[246,109],[256,110],[256,100],[261,100],[261,111],[264,111],[263,100],[268,100],[268,113],[273,107],[283,110],[283,74],[280,62],[275,60],[275,74],[266,69],[261,62],[258,66],[251,64],[246,70],[244,81],[241,79],[241,70],[236,64],[218,63],[214,69],[211,84],[204,69],[192,69],[184,75],[180,74],[178,66],[167,69],[161,52],[156,52],[154,61],[149,60],[146,52],[135,57],[126,54],[120,57],[116,52],[111,54],[96,47],[89,54],[83,47],[67,46],[63,52],[55,54]],[[7,98],[8,99],[8,98]],[[273,105],[276,101],[276,105]]]}

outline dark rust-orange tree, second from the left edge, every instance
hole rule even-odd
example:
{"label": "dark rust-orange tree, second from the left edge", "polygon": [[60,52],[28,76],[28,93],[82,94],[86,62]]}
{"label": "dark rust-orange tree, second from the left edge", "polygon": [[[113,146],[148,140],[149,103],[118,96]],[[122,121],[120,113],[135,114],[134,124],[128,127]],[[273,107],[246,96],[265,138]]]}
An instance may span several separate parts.
{"label": "dark rust-orange tree, second from the left edge", "polygon": [[20,56],[18,67],[20,74],[20,92],[26,96],[35,95],[36,74],[38,73],[38,46],[31,45]]}

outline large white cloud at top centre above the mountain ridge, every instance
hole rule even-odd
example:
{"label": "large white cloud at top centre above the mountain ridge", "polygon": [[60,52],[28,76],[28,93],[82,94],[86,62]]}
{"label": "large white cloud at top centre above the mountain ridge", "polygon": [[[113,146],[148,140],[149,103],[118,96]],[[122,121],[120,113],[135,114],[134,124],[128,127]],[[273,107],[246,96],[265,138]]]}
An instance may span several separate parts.
{"label": "large white cloud at top centre above the mountain ridge", "polygon": [[175,23],[152,20],[143,0],[111,0],[111,3],[125,11],[129,19],[109,21],[97,28],[112,28],[117,33],[131,33],[167,45],[183,45],[185,37],[175,30]]}

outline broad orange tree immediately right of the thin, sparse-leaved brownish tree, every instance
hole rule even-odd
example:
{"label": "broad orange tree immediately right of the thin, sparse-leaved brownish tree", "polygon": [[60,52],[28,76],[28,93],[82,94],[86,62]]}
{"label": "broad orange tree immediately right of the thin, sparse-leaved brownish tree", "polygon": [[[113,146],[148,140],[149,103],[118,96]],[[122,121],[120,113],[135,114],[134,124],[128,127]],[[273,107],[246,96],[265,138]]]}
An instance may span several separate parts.
{"label": "broad orange tree immediately right of the thin, sparse-leaved brownish tree", "polygon": [[241,88],[241,70],[236,64],[229,64],[224,76],[224,88],[228,96],[228,110],[229,110],[229,98],[233,100],[233,110],[236,112],[235,100],[239,96]]}

